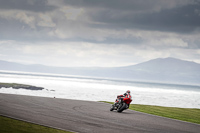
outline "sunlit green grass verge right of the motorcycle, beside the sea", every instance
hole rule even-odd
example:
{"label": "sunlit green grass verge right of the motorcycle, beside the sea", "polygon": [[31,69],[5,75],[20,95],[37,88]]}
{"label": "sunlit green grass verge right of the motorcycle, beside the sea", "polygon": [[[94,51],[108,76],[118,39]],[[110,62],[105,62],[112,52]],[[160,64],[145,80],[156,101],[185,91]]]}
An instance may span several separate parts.
{"label": "sunlit green grass verge right of the motorcycle, beside the sea", "polygon": [[[113,104],[112,102],[106,102]],[[129,109],[162,117],[200,124],[200,109],[131,104]]]}

